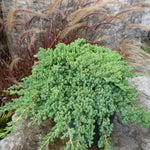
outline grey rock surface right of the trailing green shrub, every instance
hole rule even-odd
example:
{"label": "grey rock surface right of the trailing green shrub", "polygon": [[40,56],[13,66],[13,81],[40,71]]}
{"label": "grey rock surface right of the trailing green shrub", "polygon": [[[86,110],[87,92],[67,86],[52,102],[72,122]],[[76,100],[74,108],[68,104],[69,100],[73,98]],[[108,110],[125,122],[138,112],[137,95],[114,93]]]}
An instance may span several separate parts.
{"label": "grey rock surface right of the trailing green shrub", "polygon": [[[130,80],[131,85],[140,93],[138,104],[145,105],[150,111],[150,75],[136,77]],[[113,150],[149,150],[150,129],[129,123],[123,125],[117,118],[114,121],[112,133]]]}

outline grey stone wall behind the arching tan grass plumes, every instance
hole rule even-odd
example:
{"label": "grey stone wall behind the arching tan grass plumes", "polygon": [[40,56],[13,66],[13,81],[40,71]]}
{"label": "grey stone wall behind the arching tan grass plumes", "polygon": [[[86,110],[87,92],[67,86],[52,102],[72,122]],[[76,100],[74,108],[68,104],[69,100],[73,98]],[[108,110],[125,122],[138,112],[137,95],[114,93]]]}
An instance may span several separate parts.
{"label": "grey stone wall behind the arching tan grass plumes", "polygon": [[[68,2],[68,0],[63,0],[64,2]],[[110,1],[110,0],[102,0],[104,2]],[[109,4],[106,6],[108,12],[110,14],[116,14],[117,12],[120,12],[121,10],[125,10],[127,8],[130,8],[131,5],[137,2],[141,2],[141,0],[119,0],[120,2],[128,2],[128,5],[114,5],[114,4]],[[150,2],[150,0],[142,0],[142,2]],[[3,9],[3,16],[7,18],[7,14],[10,10],[10,8],[13,6],[14,0],[2,0],[2,9]],[[50,8],[52,1],[45,1],[45,0],[28,0],[29,4],[29,9],[33,11],[40,12],[44,9]],[[71,1],[69,1],[71,3]],[[18,8],[26,8],[26,3],[25,1],[18,0],[17,3]],[[145,7],[145,6],[143,6]],[[145,29],[139,29],[139,28],[132,28],[132,29],[125,29],[126,25],[129,24],[140,24],[140,25],[146,25],[150,27],[150,9],[148,8],[145,11],[140,11],[140,12],[128,12],[126,14],[123,14],[123,17],[128,20],[128,22],[114,22],[117,26],[106,26],[101,32],[99,32],[98,38],[102,37],[103,35],[111,35],[111,34],[116,34],[115,37],[110,38],[106,40],[106,45],[111,45],[112,47],[114,44],[118,43],[123,39],[129,38],[129,39],[135,39],[136,41],[142,41],[147,38],[148,36],[148,31]],[[28,14],[27,17],[31,18],[33,15]],[[16,16],[17,19],[22,18],[22,14],[17,14]],[[93,17],[94,19],[95,17]],[[95,21],[97,19],[95,18]],[[39,26],[39,21],[34,22],[34,27]],[[8,42],[10,45],[11,51],[15,51],[16,49],[16,41],[18,41],[20,35],[23,33],[23,29],[21,27],[18,27],[17,31],[13,32],[10,34],[10,32],[7,32],[7,37],[8,37]],[[12,52],[12,53],[13,53]]]}

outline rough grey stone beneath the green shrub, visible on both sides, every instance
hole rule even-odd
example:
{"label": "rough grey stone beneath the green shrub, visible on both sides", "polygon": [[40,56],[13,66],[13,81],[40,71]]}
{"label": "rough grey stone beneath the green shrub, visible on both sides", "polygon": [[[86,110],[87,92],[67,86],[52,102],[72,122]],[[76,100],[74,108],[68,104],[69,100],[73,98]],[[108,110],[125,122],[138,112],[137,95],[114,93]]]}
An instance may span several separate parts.
{"label": "rough grey stone beneath the green shrub, visible on both sides", "polygon": [[[145,105],[147,110],[150,111],[150,74],[133,78],[130,83],[136,86],[137,92],[140,93],[138,104]],[[13,118],[13,120],[15,119]],[[54,125],[49,120],[44,121],[40,126],[27,127],[27,124],[28,121],[24,121],[21,128],[16,126],[13,135],[1,140],[0,150],[38,150],[42,138]],[[65,141],[56,139],[44,150],[63,150],[64,146]],[[142,128],[133,123],[123,125],[116,116],[112,133],[112,146],[114,150],[149,150],[150,129]]]}

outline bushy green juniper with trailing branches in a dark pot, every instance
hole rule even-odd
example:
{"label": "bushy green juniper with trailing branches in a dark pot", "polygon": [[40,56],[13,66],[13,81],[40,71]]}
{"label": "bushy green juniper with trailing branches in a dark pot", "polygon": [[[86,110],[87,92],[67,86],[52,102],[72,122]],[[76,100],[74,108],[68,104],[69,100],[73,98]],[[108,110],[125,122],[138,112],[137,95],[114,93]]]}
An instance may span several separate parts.
{"label": "bushy green juniper with trailing branches in a dark pot", "polygon": [[10,88],[11,94],[20,97],[0,108],[0,113],[14,109],[18,117],[8,123],[5,134],[14,131],[15,123],[21,125],[22,116],[30,116],[29,125],[52,119],[56,125],[41,149],[61,137],[68,138],[65,150],[83,150],[92,145],[97,122],[98,146],[111,150],[110,117],[115,112],[124,124],[132,121],[150,127],[150,113],[136,104],[138,94],[127,80],[137,75],[117,52],[78,39],[70,45],[60,43],[54,51],[40,48],[35,57],[39,64],[32,75]]}

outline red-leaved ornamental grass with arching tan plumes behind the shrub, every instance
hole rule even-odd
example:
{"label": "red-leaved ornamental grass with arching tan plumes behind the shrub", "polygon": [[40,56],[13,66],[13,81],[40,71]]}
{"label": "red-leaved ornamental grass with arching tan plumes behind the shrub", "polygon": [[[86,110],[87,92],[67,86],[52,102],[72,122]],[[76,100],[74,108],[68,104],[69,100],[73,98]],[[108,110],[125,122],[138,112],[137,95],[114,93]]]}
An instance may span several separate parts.
{"label": "red-leaved ornamental grass with arching tan plumes behind the shrub", "polygon": [[[33,56],[38,52],[39,47],[54,49],[58,43],[70,44],[77,38],[84,38],[90,44],[99,44],[114,36],[101,36],[101,30],[108,26],[117,26],[116,20],[126,21],[122,17],[124,13],[143,11],[144,8],[137,6],[146,4],[137,3],[113,15],[107,11],[107,5],[127,3],[98,0],[73,0],[72,3],[65,3],[63,0],[54,0],[50,8],[38,12],[30,10],[27,0],[26,8],[23,9],[18,9],[17,3],[18,1],[15,0],[7,21],[0,30],[2,32],[5,28],[13,36],[13,33],[18,32],[18,26],[22,28],[16,49],[10,49],[15,53],[10,52],[9,59],[1,59],[1,90],[18,84],[23,77],[31,74],[32,66],[38,61]],[[18,13],[22,14],[22,19],[16,18]]]}

